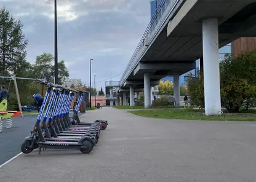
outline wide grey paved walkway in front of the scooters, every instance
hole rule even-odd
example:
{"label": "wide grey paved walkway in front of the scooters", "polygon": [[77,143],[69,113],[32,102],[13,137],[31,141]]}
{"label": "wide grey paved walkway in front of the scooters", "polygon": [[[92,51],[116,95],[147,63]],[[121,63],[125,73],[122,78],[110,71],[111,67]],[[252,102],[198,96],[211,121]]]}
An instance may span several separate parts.
{"label": "wide grey paved walkway in front of the scooters", "polygon": [[110,125],[92,153],[21,155],[0,168],[0,181],[256,181],[255,122],[148,119],[114,108],[81,117],[95,119]]}

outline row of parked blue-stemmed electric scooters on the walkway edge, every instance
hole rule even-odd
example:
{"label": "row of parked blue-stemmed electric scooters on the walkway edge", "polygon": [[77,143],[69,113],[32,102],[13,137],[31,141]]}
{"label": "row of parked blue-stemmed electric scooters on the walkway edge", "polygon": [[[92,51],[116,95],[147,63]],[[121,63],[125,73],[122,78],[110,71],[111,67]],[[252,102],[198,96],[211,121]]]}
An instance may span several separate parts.
{"label": "row of parked blue-stemmed electric scooters on the walkway edge", "polygon": [[[108,121],[97,120],[89,123],[79,120],[78,111],[84,98],[84,91],[66,89],[42,80],[36,82],[47,85],[48,88],[34,129],[22,143],[22,152],[28,154],[36,148],[39,148],[39,154],[41,148],[79,149],[84,154],[91,152],[98,143],[101,130],[106,129]],[[73,117],[69,117],[74,95],[76,98],[79,96]]]}

